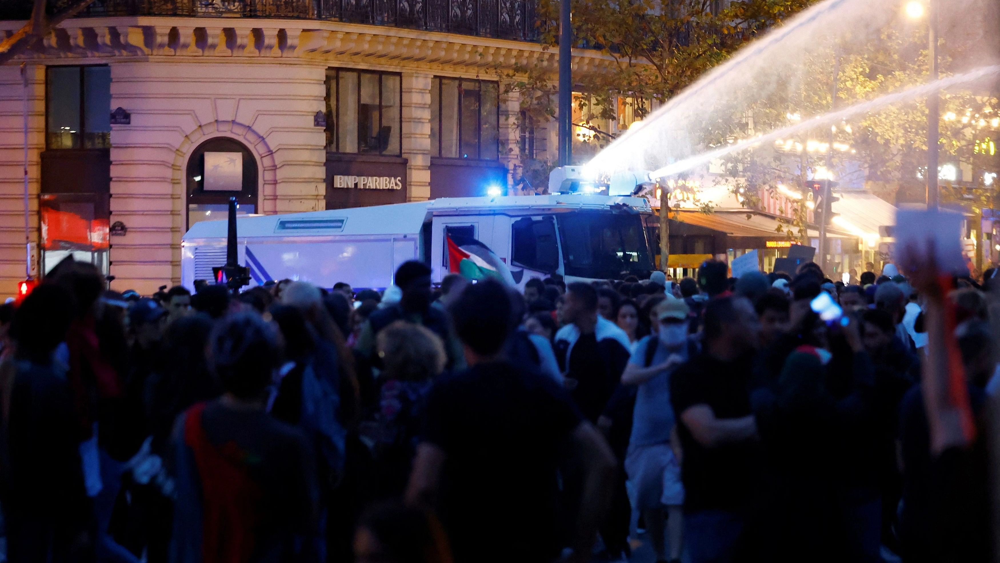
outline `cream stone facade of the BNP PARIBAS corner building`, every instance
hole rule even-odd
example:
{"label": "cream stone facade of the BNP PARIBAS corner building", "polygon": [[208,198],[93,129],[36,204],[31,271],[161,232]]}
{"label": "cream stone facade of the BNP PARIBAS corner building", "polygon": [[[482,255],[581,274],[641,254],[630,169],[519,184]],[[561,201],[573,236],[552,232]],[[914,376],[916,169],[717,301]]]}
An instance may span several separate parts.
{"label": "cream stone facade of the BNP PARIBAS corner building", "polygon": [[[95,2],[0,66],[0,291],[25,278],[26,236],[33,275],[73,254],[113,289],[149,294],[179,281],[181,236],[230,196],[272,214],[513,189],[525,135],[502,76],[554,70],[557,55],[532,41],[525,2],[505,19],[478,1],[438,7],[478,18],[465,28],[440,14],[447,25],[404,27],[405,0],[388,20],[370,5],[349,17],[348,0],[335,13],[306,0],[290,13],[256,9],[273,0],[148,0],[136,14]],[[0,21],[0,34],[21,25]],[[574,52],[575,72],[607,64]],[[531,132],[535,159],[555,156],[549,125]]]}

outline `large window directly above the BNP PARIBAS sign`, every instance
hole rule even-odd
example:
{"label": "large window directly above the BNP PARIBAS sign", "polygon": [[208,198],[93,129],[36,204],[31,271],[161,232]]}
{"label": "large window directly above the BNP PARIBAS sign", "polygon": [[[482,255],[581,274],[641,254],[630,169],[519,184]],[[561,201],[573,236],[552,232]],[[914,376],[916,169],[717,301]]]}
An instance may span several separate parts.
{"label": "large window directly above the BNP PARIBAS sign", "polygon": [[400,75],[332,68],[326,71],[326,149],[399,156]]}

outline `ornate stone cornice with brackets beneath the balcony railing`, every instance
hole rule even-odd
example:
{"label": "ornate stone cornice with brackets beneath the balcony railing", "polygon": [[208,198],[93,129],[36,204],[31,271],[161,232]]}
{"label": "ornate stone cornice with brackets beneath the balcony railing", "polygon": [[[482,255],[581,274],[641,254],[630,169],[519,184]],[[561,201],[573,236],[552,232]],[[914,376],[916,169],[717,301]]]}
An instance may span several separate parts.
{"label": "ornate stone cornice with brackets beneath the balcony railing", "polygon": [[[0,21],[6,38],[24,22]],[[537,43],[437,31],[322,20],[208,17],[77,18],[64,22],[22,56],[25,60],[136,58],[293,64],[405,66],[428,71],[510,72],[558,68],[554,50]],[[587,74],[616,64],[599,52],[574,49],[573,70]]]}

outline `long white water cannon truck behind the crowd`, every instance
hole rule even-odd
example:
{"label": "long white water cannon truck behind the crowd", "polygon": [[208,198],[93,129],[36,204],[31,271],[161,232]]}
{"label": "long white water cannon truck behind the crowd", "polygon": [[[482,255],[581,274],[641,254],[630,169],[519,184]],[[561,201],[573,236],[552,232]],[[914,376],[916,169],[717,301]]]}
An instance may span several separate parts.
{"label": "long white water cannon truck behind the crowd", "polygon": [[[642,222],[650,212],[645,199],[633,197],[442,198],[240,217],[237,248],[240,264],[250,268],[251,285],[287,278],[326,288],[346,282],[381,290],[392,285],[396,268],[407,260],[428,263],[434,282],[448,275],[446,229],[451,229],[488,246],[520,286],[552,273],[567,280],[607,279],[612,275],[597,274],[618,275],[613,272],[618,266],[637,274],[652,269]],[[196,223],[184,235],[184,286],[212,281],[212,268],[226,261],[226,233],[222,220]],[[603,253],[600,267],[594,265],[595,252]]]}

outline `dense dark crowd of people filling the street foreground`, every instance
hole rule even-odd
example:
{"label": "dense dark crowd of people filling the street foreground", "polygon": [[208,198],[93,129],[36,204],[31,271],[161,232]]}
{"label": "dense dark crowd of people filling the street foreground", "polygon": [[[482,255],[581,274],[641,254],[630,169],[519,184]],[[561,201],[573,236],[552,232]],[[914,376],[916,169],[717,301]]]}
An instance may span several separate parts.
{"label": "dense dark crowd of people filling the street foreground", "polygon": [[998,317],[911,262],[141,297],[69,259],[0,306],[7,558],[986,561]]}

